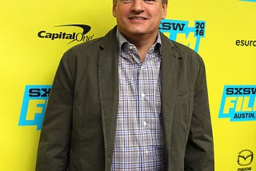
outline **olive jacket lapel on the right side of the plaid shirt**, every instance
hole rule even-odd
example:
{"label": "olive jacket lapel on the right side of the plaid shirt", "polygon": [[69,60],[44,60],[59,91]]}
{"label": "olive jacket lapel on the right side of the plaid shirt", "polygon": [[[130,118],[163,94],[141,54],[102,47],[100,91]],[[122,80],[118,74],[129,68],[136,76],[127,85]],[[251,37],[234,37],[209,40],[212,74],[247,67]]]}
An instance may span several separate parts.
{"label": "olive jacket lapel on the right side of the plaid shirt", "polygon": [[[161,34],[162,38],[162,117],[166,140],[166,159],[170,153],[170,139],[174,118],[174,100],[178,74],[179,53],[174,44]],[[167,160],[168,161],[168,160]]]}

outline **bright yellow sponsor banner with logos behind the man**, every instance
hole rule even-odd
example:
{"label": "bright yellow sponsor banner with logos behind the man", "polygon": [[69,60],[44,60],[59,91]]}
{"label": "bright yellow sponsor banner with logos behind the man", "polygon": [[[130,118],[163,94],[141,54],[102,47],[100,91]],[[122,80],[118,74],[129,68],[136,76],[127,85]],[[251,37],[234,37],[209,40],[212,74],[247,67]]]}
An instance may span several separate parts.
{"label": "bright yellow sponsor banner with logos behind the man", "polygon": [[[0,2],[0,170],[32,171],[62,54],[115,25],[112,0]],[[159,30],[206,63],[215,170],[256,170],[256,1],[170,0]]]}

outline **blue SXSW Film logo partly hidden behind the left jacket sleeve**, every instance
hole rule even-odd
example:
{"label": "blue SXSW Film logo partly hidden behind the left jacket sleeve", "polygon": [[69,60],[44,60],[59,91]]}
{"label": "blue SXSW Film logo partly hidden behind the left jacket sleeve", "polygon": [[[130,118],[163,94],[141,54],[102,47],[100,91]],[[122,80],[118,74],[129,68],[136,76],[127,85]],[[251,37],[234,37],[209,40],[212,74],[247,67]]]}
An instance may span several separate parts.
{"label": "blue SXSW Film logo partly hidden behind the left jacket sleeve", "polygon": [[19,126],[36,125],[42,129],[42,121],[51,85],[26,85],[19,117]]}

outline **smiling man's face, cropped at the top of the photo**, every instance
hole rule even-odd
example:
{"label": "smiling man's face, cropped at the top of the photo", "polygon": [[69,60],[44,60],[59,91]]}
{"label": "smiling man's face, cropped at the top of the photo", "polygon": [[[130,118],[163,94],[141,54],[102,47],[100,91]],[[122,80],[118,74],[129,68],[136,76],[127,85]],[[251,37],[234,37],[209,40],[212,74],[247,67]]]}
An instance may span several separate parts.
{"label": "smiling man's face, cropped at the top of the photo", "polygon": [[162,0],[117,0],[113,5],[118,29],[128,38],[158,33],[166,11],[167,3],[162,4]]}

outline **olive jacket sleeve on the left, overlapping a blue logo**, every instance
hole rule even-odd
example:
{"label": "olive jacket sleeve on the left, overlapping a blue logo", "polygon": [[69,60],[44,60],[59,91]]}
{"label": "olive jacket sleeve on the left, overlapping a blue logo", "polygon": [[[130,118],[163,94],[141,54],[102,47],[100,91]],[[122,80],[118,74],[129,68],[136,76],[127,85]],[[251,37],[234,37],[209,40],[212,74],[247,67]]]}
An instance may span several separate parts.
{"label": "olive jacket sleeve on the left, overlapping a blue logo", "polygon": [[64,54],[54,83],[42,125],[36,162],[37,171],[66,170],[69,158],[74,89],[70,53]]}

